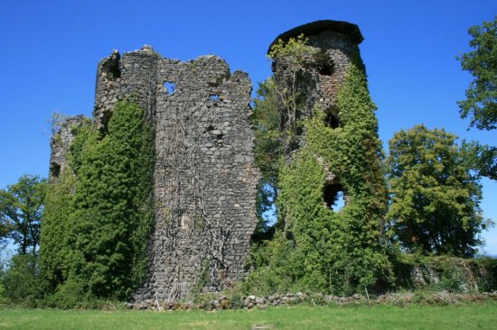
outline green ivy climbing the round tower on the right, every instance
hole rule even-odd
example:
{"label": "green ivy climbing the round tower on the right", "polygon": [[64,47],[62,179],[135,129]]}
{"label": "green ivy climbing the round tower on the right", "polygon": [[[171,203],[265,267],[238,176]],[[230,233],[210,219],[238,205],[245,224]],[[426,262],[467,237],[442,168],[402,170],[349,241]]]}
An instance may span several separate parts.
{"label": "green ivy climbing the round tower on the right", "polygon": [[[293,43],[305,41],[300,38]],[[286,47],[292,44],[288,42]],[[305,100],[301,102],[305,104]],[[286,283],[285,289],[296,286],[335,293],[378,287],[391,280],[384,246],[387,191],[383,155],[376,106],[370,99],[359,50],[347,69],[335,106],[338,127],[326,124],[326,114],[319,106],[313,115],[295,119],[305,128],[306,140],[291,159],[280,160],[279,234],[262,251],[258,246],[258,255],[252,255],[256,270],[246,281],[248,289],[253,289],[256,281],[268,279],[267,272],[272,277],[282,274],[279,282],[269,282]],[[286,129],[294,127],[287,125]],[[324,199],[329,176],[339,180],[346,194],[346,205],[340,211]],[[281,249],[284,255],[277,253]]]}

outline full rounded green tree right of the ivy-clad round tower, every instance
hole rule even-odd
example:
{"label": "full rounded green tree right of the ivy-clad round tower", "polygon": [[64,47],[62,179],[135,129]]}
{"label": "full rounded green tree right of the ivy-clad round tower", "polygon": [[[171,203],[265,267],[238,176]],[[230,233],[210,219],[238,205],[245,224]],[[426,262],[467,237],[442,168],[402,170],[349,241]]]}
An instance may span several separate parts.
{"label": "full rounded green tree right of the ivy-clad round tower", "polygon": [[471,257],[491,225],[465,146],[444,130],[417,125],[396,133],[387,159],[393,234],[408,251]]}

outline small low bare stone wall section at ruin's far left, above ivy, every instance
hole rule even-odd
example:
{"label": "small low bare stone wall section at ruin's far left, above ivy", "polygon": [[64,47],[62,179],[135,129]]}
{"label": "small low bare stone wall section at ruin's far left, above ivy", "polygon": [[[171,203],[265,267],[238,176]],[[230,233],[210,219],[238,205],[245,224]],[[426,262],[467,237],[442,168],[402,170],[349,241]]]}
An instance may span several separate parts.
{"label": "small low bare stone wall section at ruin's far left, above ivy", "polygon": [[88,118],[84,115],[66,117],[57,132],[52,135],[52,140],[50,141],[50,180],[57,179],[62,170],[66,168],[66,155],[69,151],[70,142],[74,138],[73,129],[85,120],[88,120]]}

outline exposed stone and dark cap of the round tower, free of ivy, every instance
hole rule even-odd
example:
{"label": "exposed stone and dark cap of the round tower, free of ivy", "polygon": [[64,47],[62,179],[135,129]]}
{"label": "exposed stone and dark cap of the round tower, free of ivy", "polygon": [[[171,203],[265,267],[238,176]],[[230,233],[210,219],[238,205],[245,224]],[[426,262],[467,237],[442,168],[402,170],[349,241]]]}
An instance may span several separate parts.
{"label": "exposed stone and dark cap of the round tower, free of ivy", "polygon": [[[316,53],[305,59],[305,70],[302,70],[296,81],[296,89],[302,97],[303,105],[296,114],[296,120],[303,120],[312,116],[317,107],[324,110],[326,124],[336,128],[341,126],[335,105],[335,97],[342,86],[347,68],[354,56],[358,55],[358,45],[363,41],[361,31],[356,24],[339,21],[316,21],[297,26],[292,30],[281,33],[271,43],[268,52],[279,40],[288,41],[296,39],[301,34],[308,38],[307,44],[314,47]],[[273,72],[279,85],[288,85],[288,71],[283,60],[275,60]],[[287,86],[290,88],[289,86]],[[281,112],[282,130],[289,129],[289,120],[286,114]],[[301,150],[306,144],[305,128],[298,128],[296,141],[286,145],[287,159],[295,152]],[[329,172],[326,179],[324,191],[324,202],[332,206],[333,199],[342,193],[343,199],[347,201],[346,188],[342,187],[340,180]]]}

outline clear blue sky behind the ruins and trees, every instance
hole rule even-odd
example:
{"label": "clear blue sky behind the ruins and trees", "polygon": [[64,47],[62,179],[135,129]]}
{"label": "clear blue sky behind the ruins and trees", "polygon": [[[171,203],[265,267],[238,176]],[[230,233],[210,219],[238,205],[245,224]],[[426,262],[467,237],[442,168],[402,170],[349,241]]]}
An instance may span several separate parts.
{"label": "clear blue sky behind the ruins and trees", "polygon": [[[90,115],[98,60],[151,44],[164,57],[216,54],[270,75],[267,46],[281,32],[315,20],[356,23],[362,58],[379,106],[380,138],[415,124],[497,144],[497,131],[467,131],[456,101],[471,76],[455,56],[467,29],[497,14],[497,1],[0,1],[0,188],[24,173],[46,176],[53,111]],[[497,219],[497,182],[483,182],[483,211]],[[484,234],[497,254],[497,229]]]}

